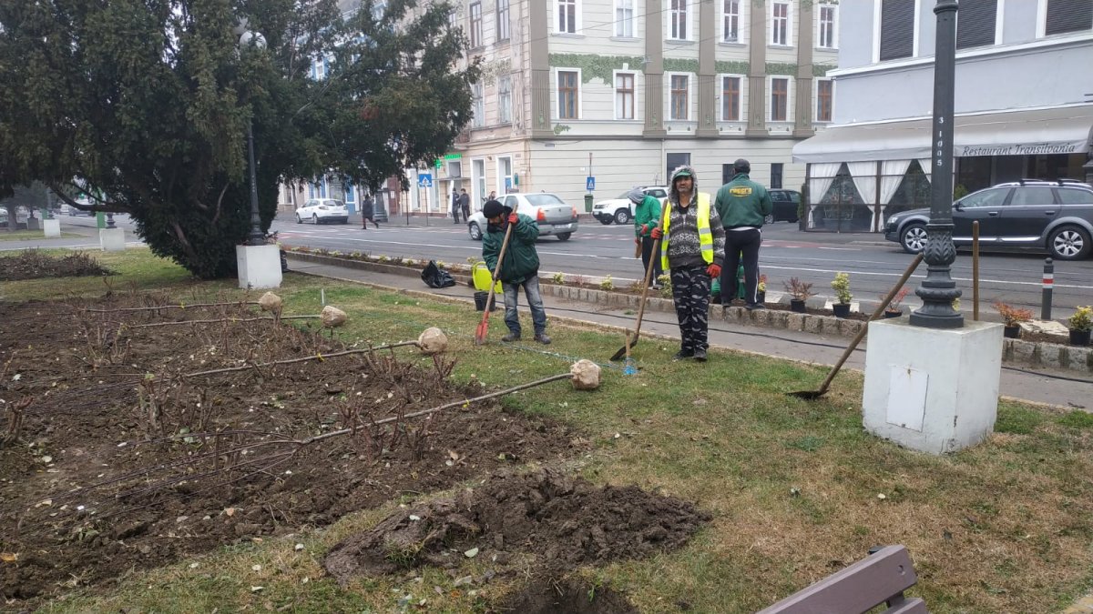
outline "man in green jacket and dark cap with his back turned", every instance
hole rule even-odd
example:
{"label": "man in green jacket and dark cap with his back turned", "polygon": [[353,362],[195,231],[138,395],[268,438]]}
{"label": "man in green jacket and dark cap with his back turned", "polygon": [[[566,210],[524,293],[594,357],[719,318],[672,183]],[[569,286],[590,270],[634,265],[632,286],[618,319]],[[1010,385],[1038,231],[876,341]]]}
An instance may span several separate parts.
{"label": "man in green jacket and dark cap with his back turned", "polygon": [[751,163],[732,163],[736,176],[717,190],[714,209],[725,226],[725,270],[721,272],[721,308],[737,297],[737,269],[744,263],[744,303],[748,309],[765,309],[759,302],[759,248],[763,243],[763,222],[774,211],[771,194],[751,180]]}

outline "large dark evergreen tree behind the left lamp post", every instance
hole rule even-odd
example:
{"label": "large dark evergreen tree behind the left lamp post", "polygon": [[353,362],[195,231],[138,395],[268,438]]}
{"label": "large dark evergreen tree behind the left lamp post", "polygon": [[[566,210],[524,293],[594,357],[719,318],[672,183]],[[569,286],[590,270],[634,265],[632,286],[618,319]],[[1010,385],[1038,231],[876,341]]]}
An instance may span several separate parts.
{"label": "large dark evergreen tree behind the left lamp post", "polygon": [[[249,231],[252,122],[262,228],[280,181],[378,186],[443,154],[477,68],[445,2],[0,1],[0,197],[42,180],[129,213],[161,256],[236,274]],[[239,49],[240,17],[267,48]],[[326,58],[325,79],[310,78]],[[404,181],[403,177],[403,181]]]}

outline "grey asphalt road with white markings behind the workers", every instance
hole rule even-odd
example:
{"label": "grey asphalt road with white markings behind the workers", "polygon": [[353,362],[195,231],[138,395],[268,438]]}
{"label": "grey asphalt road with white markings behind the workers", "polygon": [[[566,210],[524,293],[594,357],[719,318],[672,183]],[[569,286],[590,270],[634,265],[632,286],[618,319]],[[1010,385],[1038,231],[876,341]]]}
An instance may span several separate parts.
{"label": "grey asphalt road with white markings behind the workers", "polygon": [[[128,217],[117,215],[118,226],[131,229]],[[426,225],[427,224],[427,225]],[[62,238],[37,241],[0,241],[0,249],[24,247],[72,247],[97,249],[94,236],[95,220],[85,216],[62,216],[63,232],[83,232],[86,239]],[[445,262],[466,262],[480,258],[482,244],[471,240],[467,226],[456,225],[451,219],[404,217],[392,219],[379,228],[360,227],[356,220],[346,225],[296,224],[291,214],[282,214],[273,222],[282,244],[289,246],[320,247],[343,252],[362,251],[413,259],[434,259]],[[779,222],[763,229],[764,244],[760,251],[760,269],[768,278],[767,299],[778,300],[784,290],[781,283],[791,276],[813,284],[819,297],[833,295],[830,283],[838,271],[850,274],[850,292],[863,309],[879,300],[903,273],[910,256],[896,244],[885,241],[875,234],[802,233],[796,224]],[[136,237],[129,240],[139,240]],[[581,221],[580,228],[568,241],[544,237],[538,243],[543,271],[563,271],[587,276],[612,275],[616,284],[639,279],[642,263],[634,258],[633,229],[630,226],[604,226],[596,221]],[[1039,316],[1042,278],[1045,253],[994,252],[984,253],[979,261],[979,300],[984,312],[994,311],[990,303],[1006,303],[1033,310]],[[926,275],[926,265],[908,283],[912,291]],[[964,292],[962,308],[972,305],[971,252],[961,250],[952,265],[957,287]],[[1093,304],[1093,260],[1057,261],[1053,317],[1068,316],[1076,306]],[[914,306],[918,299],[912,293],[905,304]]]}

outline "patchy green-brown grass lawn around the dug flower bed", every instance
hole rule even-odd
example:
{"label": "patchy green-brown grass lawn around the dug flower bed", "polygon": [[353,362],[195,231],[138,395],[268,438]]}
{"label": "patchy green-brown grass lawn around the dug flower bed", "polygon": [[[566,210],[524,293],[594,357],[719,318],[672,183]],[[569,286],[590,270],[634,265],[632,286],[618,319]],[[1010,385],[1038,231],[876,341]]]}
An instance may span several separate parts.
{"label": "patchy green-brown grass lawn around the dug flower bed", "polygon": [[[144,249],[96,256],[113,278],[7,283],[5,300],[57,299],[160,290],[195,300],[238,296],[235,280],[200,282]],[[105,285],[104,285],[105,280]],[[107,287],[109,286],[109,287]],[[415,339],[438,326],[458,358],[453,377],[504,387],[566,373],[578,358],[603,362],[616,334],[551,326],[554,343],[506,346],[502,316],[491,342],[474,346],[481,316],[470,305],[432,300],[290,273],[278,291],[285,314],[314,314],[326,300],[349,314],[348,342]],[[252,293],[254,295],[255,293]],[[904,544],[919,574],[913,591],[931,612],[1057,611],[1093,586],[1093,416],[1001,403],[995,435],[945,457],[901,449],[861,428],[861,376],[843,373],[824,399],[786,395],[815,388],[824,370],[714,351],[705,365],[673,363],[673,344],[648,340],[639,375],[607,366],[599,390],[555,382],[509,395],[514,410],[549,415],[584,432],[592,452],[571,470],[597,483],[640,487],[696,501],[714,516],[684,548],[649,559],[574,570],[622,591],[643,612],[753,612],[866,556]],[[391,501],[389,506],[398,501]],[[119,586],[73,592],[45,612],[397,611],[467,612],[513,590],[513,578],[475,595],[426,568],[345,588],[319,562],[342,538],[387,509],[324,530],[225,546],[199,559],[136,572]],[[304,550],[295,551],[296,543]],[[480,574],[471,562],[459,575]],[[260,568],[256,568],[260,566]],[[252,587],[263,587],[255,591]],[[433,587],[439,587],[439,593]]]}

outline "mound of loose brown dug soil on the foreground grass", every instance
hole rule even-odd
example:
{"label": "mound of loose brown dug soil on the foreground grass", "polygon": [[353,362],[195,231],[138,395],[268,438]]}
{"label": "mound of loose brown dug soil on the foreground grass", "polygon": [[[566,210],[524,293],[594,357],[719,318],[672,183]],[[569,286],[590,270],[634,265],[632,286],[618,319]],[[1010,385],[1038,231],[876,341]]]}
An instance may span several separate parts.
{"label": "mound of loose brown dug soil on the foreground grass", "polygon": [[505,472],[455,497],[399,510],[334,546],[324,567],[343,583],[422,564],[454,566],[471,555],[504,560],[530,553],[545,569],[568,569],[679,547],[708,520],[687,501],[636,486]]}

